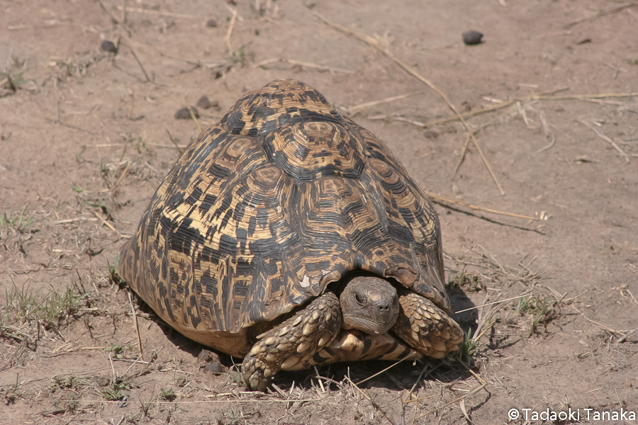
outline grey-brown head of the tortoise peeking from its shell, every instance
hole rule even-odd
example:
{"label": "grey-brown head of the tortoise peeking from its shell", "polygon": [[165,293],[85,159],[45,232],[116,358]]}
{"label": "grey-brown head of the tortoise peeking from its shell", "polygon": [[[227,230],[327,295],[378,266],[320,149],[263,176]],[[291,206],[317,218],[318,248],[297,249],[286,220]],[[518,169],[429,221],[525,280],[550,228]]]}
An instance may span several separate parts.
{"label": "grey-brown head of the tortoise peeking from its shell", "polygon": [[394,326],[399,312],[398,295],[387,280],[376,276],[356,276],[340,296],[344,329],[368,334],[385,334]]}

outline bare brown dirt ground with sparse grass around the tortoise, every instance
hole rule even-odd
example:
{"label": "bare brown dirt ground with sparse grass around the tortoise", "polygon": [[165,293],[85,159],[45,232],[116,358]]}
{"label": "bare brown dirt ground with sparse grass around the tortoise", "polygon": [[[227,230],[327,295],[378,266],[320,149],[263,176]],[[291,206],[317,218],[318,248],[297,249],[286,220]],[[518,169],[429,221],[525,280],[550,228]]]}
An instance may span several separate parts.
{"label": "bare brown dirt ground with sparse grass around the tortoise", "polygon": [[[0,7],[0,425],[638,423],[635,1]],[[463,45],[466,30],[483,42]],[[472,142],[454,176],[468,133],[392,55],[465,114],[504,195]],[[175,113],[208,96],[204,128],[277,78],[314,86],[454,201],[437,201],[449,293],[475,307],[458,314],[459,355],[246,392],[233,359],[203,370],[202,347],[111,275],[198,135]]]}

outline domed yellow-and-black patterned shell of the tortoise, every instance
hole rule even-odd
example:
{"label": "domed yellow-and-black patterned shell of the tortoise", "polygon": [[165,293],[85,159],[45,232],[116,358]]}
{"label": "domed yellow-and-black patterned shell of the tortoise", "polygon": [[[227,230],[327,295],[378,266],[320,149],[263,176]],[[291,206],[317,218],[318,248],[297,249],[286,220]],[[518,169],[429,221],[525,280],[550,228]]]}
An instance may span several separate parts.
{"label": "domed yellow-and-black patterned shell of the tortoise", "polygon": [[235,355],[206,334],[276,319],[355,269],[449,311],[430,200],[379,139],[295,80],[245,95],[191,142],[118,266],[162,319]]}

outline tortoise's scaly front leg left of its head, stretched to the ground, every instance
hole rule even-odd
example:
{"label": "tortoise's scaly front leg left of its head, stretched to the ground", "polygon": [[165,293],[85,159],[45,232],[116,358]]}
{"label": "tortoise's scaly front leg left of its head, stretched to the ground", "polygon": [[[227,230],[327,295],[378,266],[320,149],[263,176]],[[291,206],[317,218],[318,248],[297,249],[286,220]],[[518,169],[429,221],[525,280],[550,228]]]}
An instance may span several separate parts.
{"label": "tortoise's scaly front leg left of its head, stretched to the ground", "polygon": [[325,293],[284,323],[259,335],[242,363],[248,386],[264,391],[279,370],[306,361],[329,344],[339,333],[342,321],[337,295]]}

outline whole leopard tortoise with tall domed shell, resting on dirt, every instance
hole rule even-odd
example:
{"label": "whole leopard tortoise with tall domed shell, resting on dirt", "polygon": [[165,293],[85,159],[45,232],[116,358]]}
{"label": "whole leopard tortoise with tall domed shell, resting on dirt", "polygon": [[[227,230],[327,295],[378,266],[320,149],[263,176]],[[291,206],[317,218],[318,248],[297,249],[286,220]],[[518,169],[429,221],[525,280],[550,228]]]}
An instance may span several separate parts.
{"label": "whole leopard tortoise with tall domed shell, resting on dirt", "polygon": [[189,144],[118,273],[265,390],[279,370],[457,350],[442,252],[435,209],[384,143],[281,79]]}

